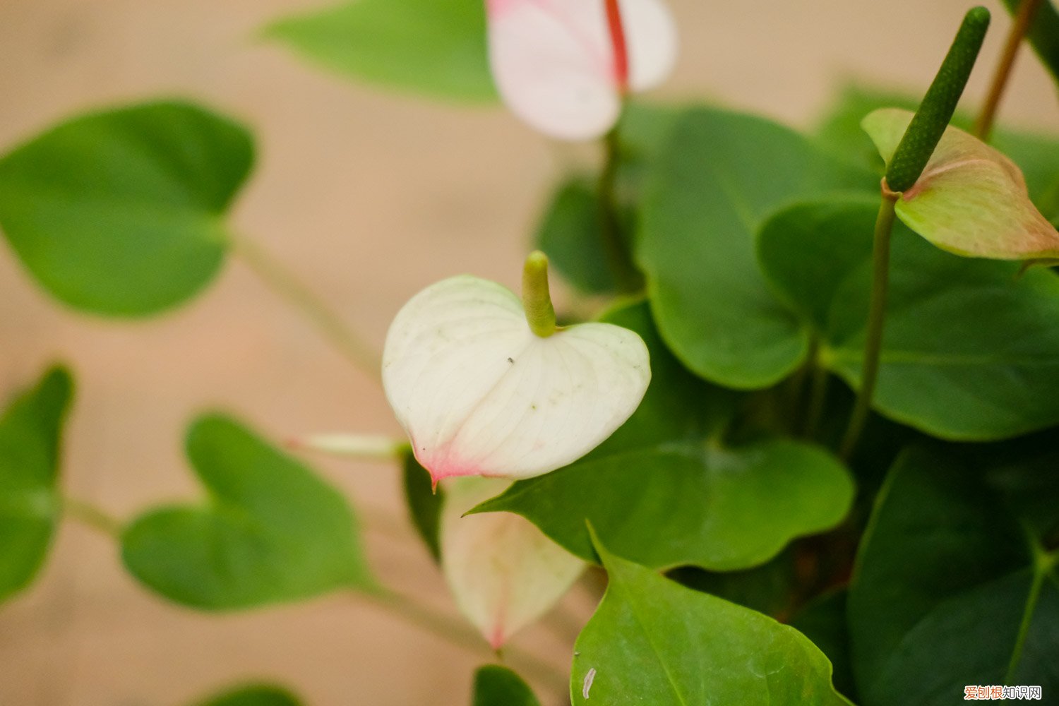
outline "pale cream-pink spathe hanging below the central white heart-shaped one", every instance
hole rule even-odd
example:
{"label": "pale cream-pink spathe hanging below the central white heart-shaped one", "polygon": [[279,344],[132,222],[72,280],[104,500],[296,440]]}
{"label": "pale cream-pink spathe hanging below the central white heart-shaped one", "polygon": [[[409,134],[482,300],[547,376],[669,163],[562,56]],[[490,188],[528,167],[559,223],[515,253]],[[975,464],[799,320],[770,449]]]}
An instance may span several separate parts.
{"label": "pale cream-pink spathe hanging below the central white heart-shaped one", "polygon": [[438,536],[442,571],[456,605],[493,649],[551,610],[585,571],[585,562],[525,518],[461,517],[508,485],[497,478],[446,482]]}

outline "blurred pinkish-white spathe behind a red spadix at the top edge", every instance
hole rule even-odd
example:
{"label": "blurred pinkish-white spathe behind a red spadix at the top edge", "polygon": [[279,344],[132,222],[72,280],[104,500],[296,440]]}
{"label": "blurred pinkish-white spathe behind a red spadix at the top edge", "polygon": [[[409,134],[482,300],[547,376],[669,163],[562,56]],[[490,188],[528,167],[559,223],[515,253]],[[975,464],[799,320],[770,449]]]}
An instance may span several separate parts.
{"label": "blurred pinkish-white spathe behind a red spadix at the top edge", "polygon": [[[489,65],[511,111],[560,140],[591,140],[622,104],[605,0],[487,0]],[[661,0],[620,0],[629,89],[662,83],[677,59],[677,29]]]}

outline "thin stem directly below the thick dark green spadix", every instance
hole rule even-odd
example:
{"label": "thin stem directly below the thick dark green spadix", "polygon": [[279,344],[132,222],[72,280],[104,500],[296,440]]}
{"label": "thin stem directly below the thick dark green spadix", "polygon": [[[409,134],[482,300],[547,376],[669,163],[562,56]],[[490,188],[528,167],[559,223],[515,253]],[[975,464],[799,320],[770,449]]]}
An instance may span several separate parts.
{"label": "thin stem directly below the thick dark green spadix", "polygon": [[894,229],[896,194],[884,192],[879,215],[875,221],[875,240],[872,250],[872,302],[868,308],[867,334],[864,342],[864,363],[861,367],[860,392],[849,416],[849,426],[842,440],[840,454],[849,460],[861,432],[872,411],[872,397],[879,376],[879,356],[882,352],[882,326],[886,319],[886,290],[890,285],[890,235]]}

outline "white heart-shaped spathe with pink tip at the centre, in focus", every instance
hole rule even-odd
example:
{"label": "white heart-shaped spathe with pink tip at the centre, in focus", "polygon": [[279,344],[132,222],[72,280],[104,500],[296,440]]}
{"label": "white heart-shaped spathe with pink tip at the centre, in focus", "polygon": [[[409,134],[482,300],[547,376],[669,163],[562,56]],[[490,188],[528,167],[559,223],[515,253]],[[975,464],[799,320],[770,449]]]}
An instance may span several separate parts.
{"label": "white heart-shaped spathe with pink tip at the centre, in focus", "polygon": [[625,422],[649,382],[634,332],[589,323],[540,338],[510,290],[470,275],[413,296],[382,352],[387,398],[435,483],[566,466]]}

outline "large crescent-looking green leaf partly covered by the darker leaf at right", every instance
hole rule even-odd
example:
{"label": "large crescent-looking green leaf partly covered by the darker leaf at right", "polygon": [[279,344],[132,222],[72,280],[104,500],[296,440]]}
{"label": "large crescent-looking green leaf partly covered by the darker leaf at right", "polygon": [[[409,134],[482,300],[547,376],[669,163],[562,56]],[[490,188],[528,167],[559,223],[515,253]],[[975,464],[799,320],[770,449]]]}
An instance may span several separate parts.
{"label": "large crescent-looking green leaf partly covered by the darker leaf at right", "polygon": [[663,338],[714,382],[767,387],[809,341],[771,294],[754,233],[777,207],[834,191],[878,191],[796,132],[760,117],[695,108],[667,132],[648,178],[638,256]]}

